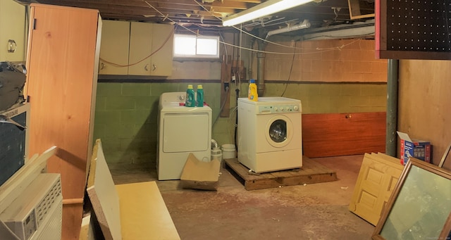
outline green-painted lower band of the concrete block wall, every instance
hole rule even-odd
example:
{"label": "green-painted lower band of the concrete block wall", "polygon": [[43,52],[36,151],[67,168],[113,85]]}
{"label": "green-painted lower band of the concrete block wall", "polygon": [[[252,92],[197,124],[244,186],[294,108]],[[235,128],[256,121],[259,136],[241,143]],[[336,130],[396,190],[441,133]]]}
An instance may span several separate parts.
{"label": "green-painted lower band of the concrete block wall", "polygon": [[[233,144],[236,118],[235,87],[230,91],[230,117],[217,118],[221,84],[211,82],[100,82],[94,120],[94,139],[101,139],[109,163],[154,163],[156,160],[159,96],[185,91],[187,84],[202,84],[205,101],[213,109],[212,138]],[[265,96],[285,96],[302,101],[302,113],[363,113],[385,111],[386,84],[266,83]],[[240,84],[247,97],[247,83]]]}

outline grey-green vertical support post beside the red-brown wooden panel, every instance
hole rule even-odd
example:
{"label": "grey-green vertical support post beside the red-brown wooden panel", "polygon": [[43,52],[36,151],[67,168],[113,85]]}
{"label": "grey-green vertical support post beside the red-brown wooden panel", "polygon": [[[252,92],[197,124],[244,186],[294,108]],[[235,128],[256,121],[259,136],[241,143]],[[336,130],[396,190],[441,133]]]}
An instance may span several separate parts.
{"label": "grey-green vertical support post beside the red-brown wooden panel", "polygon": [[388,60],[387,77],[387,129],[385,134],[385,154],[396,158],[397,146],[397,80],[399,61]]}

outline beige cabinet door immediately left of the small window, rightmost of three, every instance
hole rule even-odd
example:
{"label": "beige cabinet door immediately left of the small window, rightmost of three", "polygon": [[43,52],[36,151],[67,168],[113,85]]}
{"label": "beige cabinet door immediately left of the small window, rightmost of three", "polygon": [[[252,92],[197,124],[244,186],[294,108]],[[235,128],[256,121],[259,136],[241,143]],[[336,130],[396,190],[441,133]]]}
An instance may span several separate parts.
{"label": "beige cabinet door immediately left of the small window, rightmost of three", "polygon": [[173,60],[174,27],[167,24],[154,24],[152,41],[152,75],[171,76]]}

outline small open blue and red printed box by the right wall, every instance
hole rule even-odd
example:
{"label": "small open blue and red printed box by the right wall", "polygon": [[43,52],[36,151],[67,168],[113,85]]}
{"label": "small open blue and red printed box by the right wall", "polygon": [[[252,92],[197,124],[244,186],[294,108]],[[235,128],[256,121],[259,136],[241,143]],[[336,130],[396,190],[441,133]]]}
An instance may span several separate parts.
{"label": "small open blue and red printed box by the right wall", "polygon": [[410,157],[431,163],[432,146],[429,141],[411,139],[404,132],[397,132],[397,135],[401,139],[400,156],[402,165],[405,165]]}

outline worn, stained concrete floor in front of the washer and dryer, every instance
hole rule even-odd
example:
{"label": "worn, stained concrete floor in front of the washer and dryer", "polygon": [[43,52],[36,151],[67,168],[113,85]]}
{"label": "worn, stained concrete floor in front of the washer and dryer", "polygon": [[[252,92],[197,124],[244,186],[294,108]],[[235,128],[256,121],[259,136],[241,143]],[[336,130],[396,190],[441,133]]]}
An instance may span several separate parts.
{"label": "worn, stained concrete floor in front of the washer and dryer", "polygon": [[183,240],[371,239],[374,226],[347,209],[363,156],[314,158],[338,181],[247,191],[221,170],[218,191],[158,181],[154,165],[110,165],[116,184],[156,181]]}

